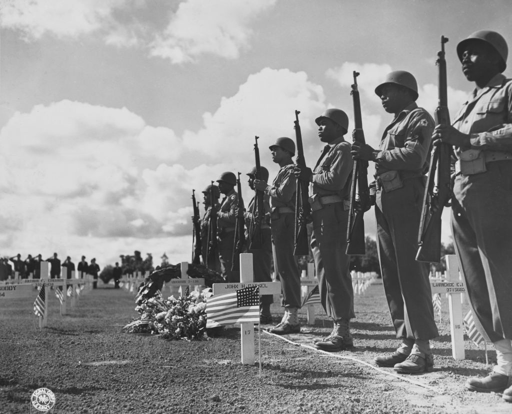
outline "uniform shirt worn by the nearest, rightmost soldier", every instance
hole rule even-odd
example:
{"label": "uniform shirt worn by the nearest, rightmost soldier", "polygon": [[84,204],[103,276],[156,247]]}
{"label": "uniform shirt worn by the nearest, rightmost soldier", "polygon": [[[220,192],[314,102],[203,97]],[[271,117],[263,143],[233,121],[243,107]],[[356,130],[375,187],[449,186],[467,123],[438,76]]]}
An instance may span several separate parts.
{"label": "uniform shirt worn by the nearest, rightmost soldier", "polygon": [[[512,79],[498,74],[475,89],[453,126],[471,135],[471,149],[512,152]],[[460,157],[460,149],[456,155]]]}

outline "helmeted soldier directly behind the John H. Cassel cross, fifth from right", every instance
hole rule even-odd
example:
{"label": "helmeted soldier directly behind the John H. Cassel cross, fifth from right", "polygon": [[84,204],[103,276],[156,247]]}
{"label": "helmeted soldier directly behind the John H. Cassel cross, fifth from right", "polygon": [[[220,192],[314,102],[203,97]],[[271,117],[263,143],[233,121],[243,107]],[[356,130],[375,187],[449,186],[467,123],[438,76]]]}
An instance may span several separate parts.
{"label": "helmeted soldier directly behind the John H. Cassel cross, fifth from right", "polygon": [[[265,167],[261,167],[261,179],[263,181],[268,180],[268,170]],[[248,184],[251,190],[254,190],[254,181],[256,178],[256,167],[252,168],[247,175],[249,176]],[[272,282],[270,275],[270,266],[272,263],[272,235],[270,232],[269,220],[270,220],[270,202],[268,194],[263,195],[263,211],[265,217],[262,218],[261,223],[254,223],[256,216],[256,196],[252,197],[247,211],[244,212],[245,218],[245,240],[247,240],[247,246],[250,245],[249,229],[251,223],[253,225],[260,225],[261,234],[261,248],[258,249],[247,249],[247,253],[252,254],[252,266],[254,270],[254,282]],[[261,295],[260,296],[260,323],[271,324],[272,315],[270,313],[270,305],[273,303],[273,295]]]}

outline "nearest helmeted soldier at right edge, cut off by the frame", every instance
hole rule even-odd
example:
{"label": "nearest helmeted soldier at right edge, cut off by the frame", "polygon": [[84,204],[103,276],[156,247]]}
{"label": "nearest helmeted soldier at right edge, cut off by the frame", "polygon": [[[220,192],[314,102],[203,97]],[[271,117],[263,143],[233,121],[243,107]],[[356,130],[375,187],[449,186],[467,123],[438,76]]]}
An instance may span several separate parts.
{"label": "nearest helmeted soldier at right edge, cut off by the frame", "polygon": [[435,143],[455,147],[452,233],[478,330],[494,343],[498,364],[467,380],[477,392],[512,402],[512,80],[505,39],[478,31],[457,45],[462,73],[475,89],[454,118],[438,125]]}

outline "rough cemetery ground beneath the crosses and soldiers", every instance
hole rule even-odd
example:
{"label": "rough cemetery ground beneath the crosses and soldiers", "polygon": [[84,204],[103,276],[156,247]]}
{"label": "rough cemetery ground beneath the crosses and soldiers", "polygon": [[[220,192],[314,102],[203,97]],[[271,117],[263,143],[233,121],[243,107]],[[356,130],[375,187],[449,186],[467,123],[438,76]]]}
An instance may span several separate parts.
{"label": "rough cemetery ground beneath the crosses and soldiers", "polygon": [[[464,390],[470,376],[485,375],[483,346],[465,340],[466,360],[452,358],[448,301],[442,295],[440,337],[432,342],[434,372],[393,376],[373,369],[373,358],[397,346],[380,280],[355,297],[352,351],[325,355],[261,333],[258,363],[240,363],[240,329],[227,328],[209,340],[166,341],[121,333],[132,317],[134,296],[100,283],[60,316],[48,290],[48,327],[39,331],[33,299],[0,302],[0,412],[30,412],[39,387],[55,395],[54,413],[509,413],[499,394]],[[280,314],[279,295],[273,313]],[[314,326],[301,310],[301,334],[311,345],[331,324],[315,305]],[[463,312],[467,305],[463,305]],[[258,340],[258,334],[255,335]],[[258,343],[255,345],[258,352]],[[337,358],[338,357],[344,358]],[[489,362],[496,353],[489,346]],[[350,358],[350,359],[349,359]],[[375,366],[375,365],[373,365]],[[32,407],[32,412],[34,408]]]}

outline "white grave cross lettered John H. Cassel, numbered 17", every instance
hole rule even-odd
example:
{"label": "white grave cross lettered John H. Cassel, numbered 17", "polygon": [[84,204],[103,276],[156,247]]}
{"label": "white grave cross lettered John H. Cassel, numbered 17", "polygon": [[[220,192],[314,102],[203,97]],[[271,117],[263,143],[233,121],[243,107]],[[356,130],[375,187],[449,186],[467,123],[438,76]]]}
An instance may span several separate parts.
{"label": "white grave cross lettered John H. Cassel, numbered 17", "polygon": [[[240,283],[214,283],[214,296],[234,292],[250,286],[258,286],[260,295],[281,293],[281,282],[254,282],[252,253],[240,254]],[[254,365],[254,323],[240,324],[242,363]]]}

